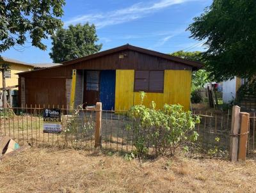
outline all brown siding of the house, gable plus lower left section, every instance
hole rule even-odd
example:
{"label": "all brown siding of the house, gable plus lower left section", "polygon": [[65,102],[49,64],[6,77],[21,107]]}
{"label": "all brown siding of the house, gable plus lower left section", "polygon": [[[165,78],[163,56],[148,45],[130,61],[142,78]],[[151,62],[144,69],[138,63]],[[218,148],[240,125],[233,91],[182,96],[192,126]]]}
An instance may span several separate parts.
{"label": "all brown siding of the house, gable plus lower left section", "polygon": [[[122,55],[122,57],[120,57]],[[77,60],[71,65],[60,65],[28,73],[20,73],[25,78],[26,104],[67,105],[66,79],[72,79],[72,69],[77,70],[189,70],[193,66],[170,59],[152,56],[136,50],[118,52]],[[19,82],[19,90],[20,82]],[[21,94],[21,93],[20,93]],[[20,95],[21,96],[21,95]],[[21,100],[20,100],[21,105]]]}

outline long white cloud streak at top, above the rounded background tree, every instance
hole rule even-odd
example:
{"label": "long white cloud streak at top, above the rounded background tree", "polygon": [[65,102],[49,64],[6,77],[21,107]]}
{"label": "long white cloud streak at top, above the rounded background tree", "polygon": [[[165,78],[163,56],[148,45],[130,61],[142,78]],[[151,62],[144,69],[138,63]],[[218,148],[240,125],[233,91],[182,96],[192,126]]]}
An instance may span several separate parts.
{"label": "long white cloud streak at top, above the rounded background tree", "polygon": [[189,1],[200,0],[159,0],[155,3],[136,3],[127,8],[114,10],[106,13],[95,13],[88,15],[79,15],[65,22],[65,26],[70,24],[90,22],[99,29],[106,26],[122,24],[132,20],[146,17],[149,14],[163,10],[175,4],[187,3]]}

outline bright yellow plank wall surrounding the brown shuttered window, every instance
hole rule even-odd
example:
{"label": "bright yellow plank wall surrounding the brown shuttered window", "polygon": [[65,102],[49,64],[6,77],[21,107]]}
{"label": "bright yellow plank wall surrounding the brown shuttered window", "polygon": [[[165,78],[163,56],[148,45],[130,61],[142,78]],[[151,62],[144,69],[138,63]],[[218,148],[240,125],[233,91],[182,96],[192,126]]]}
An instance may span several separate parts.
{"label": "bright yellow plank wall surrounding the brown shuttered window", "polygon": [[[116,70],[115,110],[129,109],[140,104],[140,93],[134,92],[134,70]],[[180,104],[189,110],[191,71],[164,70],[164,93],[147,93],[144,105],[156,102],[157,109],[164,104]]]}

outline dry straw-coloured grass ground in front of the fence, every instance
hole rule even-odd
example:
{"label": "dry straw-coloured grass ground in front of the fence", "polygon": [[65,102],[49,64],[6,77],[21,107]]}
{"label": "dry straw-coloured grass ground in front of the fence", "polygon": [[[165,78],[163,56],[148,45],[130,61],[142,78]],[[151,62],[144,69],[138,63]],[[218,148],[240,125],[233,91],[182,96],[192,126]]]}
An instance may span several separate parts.
{"label": "dry straw-coloured grass ground in front of the fence", "polygon": [[256,162],[31,148],[0,162],[0,192],[256,192]]}

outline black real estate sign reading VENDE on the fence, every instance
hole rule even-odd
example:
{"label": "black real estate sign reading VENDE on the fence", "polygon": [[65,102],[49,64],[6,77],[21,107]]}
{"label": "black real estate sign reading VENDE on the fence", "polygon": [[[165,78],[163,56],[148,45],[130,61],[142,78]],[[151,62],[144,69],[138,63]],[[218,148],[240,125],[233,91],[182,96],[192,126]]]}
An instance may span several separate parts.
{"label": "black real estate sign reading VENDE on the fence", "polygon": [[44,133],[61,133],[60,109],[44,109]]}

